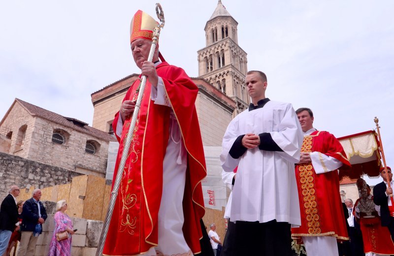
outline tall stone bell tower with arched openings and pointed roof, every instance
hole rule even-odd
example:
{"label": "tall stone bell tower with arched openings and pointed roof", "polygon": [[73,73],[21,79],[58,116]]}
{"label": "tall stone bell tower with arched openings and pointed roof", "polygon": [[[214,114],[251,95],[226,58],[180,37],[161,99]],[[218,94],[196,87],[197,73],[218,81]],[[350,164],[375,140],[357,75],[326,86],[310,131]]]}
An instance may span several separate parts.
{"label": "tall stone bell tower with arched openings and pointed roof", "polygon": [[237,25],[218,0],[204,28],[206,46],[197,51],[198,76],[235,101],[233,117],[250,103],[245,86],[247,54],[238,45]]}

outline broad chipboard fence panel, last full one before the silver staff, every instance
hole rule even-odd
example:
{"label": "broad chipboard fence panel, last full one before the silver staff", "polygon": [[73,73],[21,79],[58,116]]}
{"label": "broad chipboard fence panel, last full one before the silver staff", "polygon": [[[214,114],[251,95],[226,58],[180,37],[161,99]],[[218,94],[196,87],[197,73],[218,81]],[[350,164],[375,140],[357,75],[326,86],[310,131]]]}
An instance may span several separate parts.
{"label": "broad chipboard fence panel, last full one before the silver staff", "polygon": [[105,179],[95,175],[88,175],[82,218],[101,220],[104,191]]}

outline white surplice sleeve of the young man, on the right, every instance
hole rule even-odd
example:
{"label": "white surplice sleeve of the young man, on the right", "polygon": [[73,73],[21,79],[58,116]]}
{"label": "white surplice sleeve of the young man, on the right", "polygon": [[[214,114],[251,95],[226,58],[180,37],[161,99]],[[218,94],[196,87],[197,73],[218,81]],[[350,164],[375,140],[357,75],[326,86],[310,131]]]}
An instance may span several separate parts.
{"label": "white surplice sleeve of the young man, on the right", "polygon": [[270,134],[273,141],[283,150],[283,152],[277,152],[279,155],[290,162],[299,162],[304,135],[291,104],[288,104],[286,108],[286,113],[279,123],[278,131],[271,131]]}

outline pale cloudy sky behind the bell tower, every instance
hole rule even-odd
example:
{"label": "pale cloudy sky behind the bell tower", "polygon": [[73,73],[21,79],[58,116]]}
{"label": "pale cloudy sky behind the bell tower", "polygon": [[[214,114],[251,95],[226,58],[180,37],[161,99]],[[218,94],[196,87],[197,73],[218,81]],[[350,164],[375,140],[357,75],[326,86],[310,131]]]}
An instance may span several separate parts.
{"label": "pale cloudy sky behind the bell tower", "polygon": [[[314,126],[337,137],[375,128],[394,166],[393,0],[223,0],[238,22],[248,69],[268,77],[266,96],[309,107]],[[156,1],[0,2],[0,116],[14,98],[92,124],[91,94],[139,73],[130,21]],[[160,49],[170,64],[198,76],[206,21],[217,0],[160,1]],[[380,181],[376,180],[372,183]]]}

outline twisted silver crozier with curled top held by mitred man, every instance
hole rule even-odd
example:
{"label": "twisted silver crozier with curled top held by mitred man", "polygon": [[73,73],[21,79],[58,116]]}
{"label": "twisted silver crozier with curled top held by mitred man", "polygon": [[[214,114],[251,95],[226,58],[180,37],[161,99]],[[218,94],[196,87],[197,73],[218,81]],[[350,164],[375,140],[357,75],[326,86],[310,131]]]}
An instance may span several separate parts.
{"label": "twisted silver crozier with curled top held by mitred man", "polygon": [[[160,12],[159,12],[159,10],[160,10]],[[149,56],[148,56],[149,62],[152,62],[152,60],[153,60],[153,55],[155,53],[156,44],[159,40],[160,30],[164,27],[164,14],[163,14],[163,9],[162,9],[162,6],[160,5],[160,3],[156,3],[156,13],[157,13],[157,16],[158,16],[161,24],[158,25],[157,27],[155,27],[155,29],[153,30],[152,45],[151,45],[151,49],[150,49]],[[109,201],[107,215],[105,216],[104,226],[101,230],[99,246],[97,248],[96,256],[102,256],[102,251],[104,249],[104,242],[105,242],[105,239],[107,238],[109,224],[111,222],[112,213],[113,213],[114,207],[115,207],[115,201],[116,201],[116,198],[118,197],[118,191],[119,191],[120,182],[122,180],[123,169],[125,168],[127,156],[128,156],[129,149],[130,149],[131,140],[134,135],[135,123],[136,123],[138,115],[139,115],[139,110],[140,110],[140,106],[141,106],[142,96],[143,96],[144,90],[145,90],[146,80],[147,80],[146,75],[142,76],[139,91],[138,91],[138,97],[137,97],[135,107],[134,107],[134,112],[132,113],[132,117],[131,117],[129,132],[126,137],[125,147],[123,149],[122,158],[119,163],[119,168],[118,168],[118,172],[116,174],[115,183],[113,186],[113,190],[111,192],[111,199]]]}

